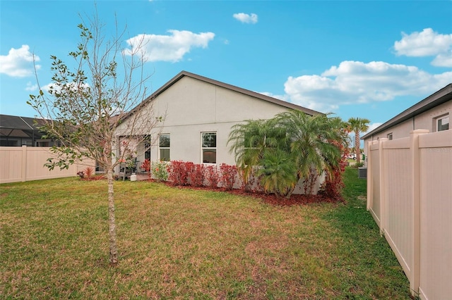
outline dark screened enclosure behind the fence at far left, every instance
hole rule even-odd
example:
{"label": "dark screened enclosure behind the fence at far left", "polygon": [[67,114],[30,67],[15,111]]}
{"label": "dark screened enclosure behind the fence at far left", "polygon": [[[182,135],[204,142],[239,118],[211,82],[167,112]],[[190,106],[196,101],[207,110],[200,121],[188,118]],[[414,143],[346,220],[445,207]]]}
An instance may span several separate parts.
{"label": "dark screened enclosure behind the fence at far left", "polygon": [[53,146],[51,139],[42,139],[39,126],[39,119],[0,115],[0,146]]}

